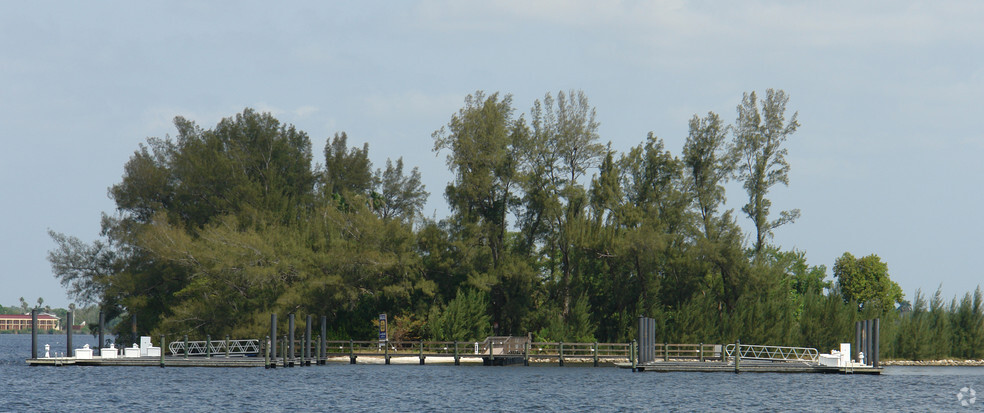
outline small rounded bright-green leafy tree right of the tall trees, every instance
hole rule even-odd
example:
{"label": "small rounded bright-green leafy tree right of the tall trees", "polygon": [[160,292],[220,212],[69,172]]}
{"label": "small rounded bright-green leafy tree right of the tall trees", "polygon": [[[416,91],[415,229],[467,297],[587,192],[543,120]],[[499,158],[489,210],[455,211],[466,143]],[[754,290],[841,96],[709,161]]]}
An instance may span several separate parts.
{"label": "small rounded bright-green leafy tree right of the tall trees", "polygon": [[875,254],[854,258],[845,252],[834,262],[834,277],[844,301],[854,300],[859,309],[885,312],[902,302],[902,288],[889,278],[888,265]]}

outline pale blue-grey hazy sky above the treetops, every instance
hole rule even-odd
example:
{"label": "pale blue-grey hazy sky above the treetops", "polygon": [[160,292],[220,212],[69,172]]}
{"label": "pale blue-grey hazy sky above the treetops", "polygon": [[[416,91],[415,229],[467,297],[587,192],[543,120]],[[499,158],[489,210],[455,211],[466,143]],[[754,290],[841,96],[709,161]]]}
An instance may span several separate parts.
{"label": "pale blue-grey hazy sky above the treetops", "polygon": [[907,299],[960,298],[984,278],[981,21],[976,0],[0,1],[0,304],[71,302],[47,231],[97,239],[107,189],[175,116],[270,112],[315,154],[345,131],[376,168],[418,166],[442,218],[431,134],[477,90],[517,115],[583,90],[603,143],[653,132],[680,155],[694,114],[734,122],[768,88],[801,123],[769,196],[802,216],[772,242],[828,273],[877,254]]}

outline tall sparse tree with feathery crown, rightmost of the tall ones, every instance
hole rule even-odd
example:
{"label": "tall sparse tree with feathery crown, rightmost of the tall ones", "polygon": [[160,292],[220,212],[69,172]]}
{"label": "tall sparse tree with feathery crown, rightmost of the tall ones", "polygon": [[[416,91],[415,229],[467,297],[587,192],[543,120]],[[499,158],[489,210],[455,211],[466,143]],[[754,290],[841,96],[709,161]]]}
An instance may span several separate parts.
{"label": "tall sparse tree with feathery crown, rightmost of the tall ones", "polygon": [[748,203],[742,212],[755,223],[755,252],[758,256],[772,230],[795,221],[799,210],[782,211],[779,218],[770,221],[772,201],[766,198],[776,184],[789,185],[788,149],[786,139],[800,126],[793,113],[786,122],[786,103],[789,97],[782,90],[766,90],[762,109],[755,92],[745,93],[738,105],[738,120],[734,128],[732,155],[737,162],[735,176],[742,181],[748,193]]}

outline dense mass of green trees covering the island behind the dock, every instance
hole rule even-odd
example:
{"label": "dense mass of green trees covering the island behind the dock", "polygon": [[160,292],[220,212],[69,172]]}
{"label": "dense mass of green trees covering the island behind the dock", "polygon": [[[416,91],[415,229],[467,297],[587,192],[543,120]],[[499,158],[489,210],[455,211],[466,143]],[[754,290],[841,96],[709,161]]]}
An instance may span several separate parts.
{"label": "dense mass of green trees covering the island behind the dock", "polygon": [[[787,102],[746,94],[734,125],[694,115],[678,157],[653,133],[624,153],[606,146],[581,91],[547,93],[528,117],[510,95],[475,92],[432,135],[454,176],[438,221],[421,216],[417,168],[400,158],[373,170],[368,145],[344,132],[316,161],[307,134],[268,113],[211,129],[178,117],[175,138],[147,139],[124,165],[100,238],[51,232],[49,259],[70,294],[136,315],[142,334],[262,336],[271,312],[293,312],[365,339],[386,312],[394,339],[624,342],[649,315],[670,342],[826,348],[881,316],[898,321],[884,337],[969,326],[937,336],[972,353],[960,349],[984,335],[972,328],[979,293],[901,311],[877,256],[845,254],[832,284],[805,252],[768,244],[798,214],[770,218],[767,199],[788,184],[783,143],[799,123],[785,120]],[[751,247],[725,210],[732,177],[748,195]]]}

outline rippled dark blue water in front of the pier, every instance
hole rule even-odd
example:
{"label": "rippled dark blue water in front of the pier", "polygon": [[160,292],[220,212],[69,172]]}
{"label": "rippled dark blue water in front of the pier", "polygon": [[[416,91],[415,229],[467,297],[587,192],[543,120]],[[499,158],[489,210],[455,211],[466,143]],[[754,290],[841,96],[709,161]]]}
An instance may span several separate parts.
{"label": "rippled dark blue water in front of the pier", "polygon": [[[0,335],[0,412],[984,410],[984,393],[967,407],[957,399],[963,387],[984,391],[981,367],[889,367],[882,376],[465,365],[28,367],[30,340]],[[39,355],[45,343],[64,351],[64,340],[39,336]],[[95,344],[88,335],[74,342]]]}

